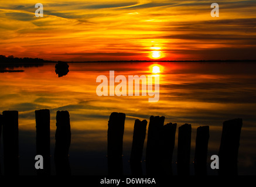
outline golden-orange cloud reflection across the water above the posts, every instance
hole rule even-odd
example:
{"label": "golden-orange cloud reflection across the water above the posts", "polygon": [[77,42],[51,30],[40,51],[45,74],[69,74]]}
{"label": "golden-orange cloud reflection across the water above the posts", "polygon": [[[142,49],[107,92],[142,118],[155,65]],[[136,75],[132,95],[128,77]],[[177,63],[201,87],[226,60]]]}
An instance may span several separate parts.
{"label": "golden-orange cloud reflection across the water above the posts", "polygon": [[[133,64],[132,64],[133,65]],[[149,64],[146,64],[148,67]],[[151,105],[147,102],[148,97],[98,97],[95,94],[95,77],[108,73],[109,68],[120,70],[120,74],[132,74],[131,64],[71,64],[73,69],[69,77],[59,81],[54,74],[39,71],[35,82],[34,75],[26,74],[25,78],[11,82],[12,86],[5,89],[18,90],[18,95],[8,92],[2,95],[5,101],[2,108],[19,109],[21,112],[40,108],[51,110],[69,110],[76,117],[74,120],[85,119],[86,117],[101,118],[108,116],[112,111],[122,111],[132,117],[146,118],[150,115],[165,115],[172,119],[187,119],[200,121],[203,119],[216,120],[235,115],[243,114],[246,118],[253,115],[250,111],[255,108],[255,81],[254,77],[245,75],[253,70],[248,64],[231,64],[232,68],[226,64],[162,64],[165,67],[165,74],[161,77],[160,101]],[[135,63],[134,74],[144,74],[141,69],[144,64]],[[98,70],[104,70],[103,72]],[[127,71],[127,68],[129,71]],[[246,73],[232,75],[233,72],[244,70]],[[250,70],[248,70],[250,69]],[[75,71],[76,70],[76,71]],[[86,72],[90,70],[89,72]],[[92,71],[93,70],[93,71]],[[122,70],[122,71],[121,71]],[[205,73],[203,73],[206,71]],[[207,72],[219,74],[209,74]],[[227,74],[228,71],[231,72]],[[38,71],[37,71],[38,72]],[[176,74],[183,72],[183,74]],[[192,73],[193,72],[193,73]],[[33,77],[33,78],[32,78]],[[22,80],[22,81],[21,81]],[[23,84],[22,84],[23,83]],[[15,96],[15,97],[14,97]],[[12,102],[8,102],[12,101]],[[23,102],[21,102],[23,101]],[[240,104],[243,103],[243,106]],[[245,103],[247,103],[245,105]],[[236,104],[236,105],[235,105]],[[148,108],[148,110],[145,110]],[[249,112],[247,108],[251,108]],[[136,112],[135,112],[136,111]],[[171,113],[170,113],[171,112]],[[83,117],[84,116],[84,117]]]}

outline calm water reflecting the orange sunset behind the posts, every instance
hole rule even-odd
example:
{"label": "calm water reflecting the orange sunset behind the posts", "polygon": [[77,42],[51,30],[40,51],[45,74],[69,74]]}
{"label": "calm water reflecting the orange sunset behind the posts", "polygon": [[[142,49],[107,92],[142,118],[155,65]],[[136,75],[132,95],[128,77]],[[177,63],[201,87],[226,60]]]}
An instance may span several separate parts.
{"label": "calm water reflecting the orange sunset behind the posts", "polygon": [[[15,68],[24,72],[0,74],[0,111],[19,111],[19,155],[21,175],[35,175],[35,110],[50,109],[51,153],[54,150],[57,110],[69,110],[71,123],[70,165],[73,175],[107,174],[107,124],[111,112],[126,114],[124,172],[130,174],[129,155],[135,119],[165,116],[165,123],[192,124],[191,162],[196,129],[210,126],[209,157],[217,154],[222,123],[243,119],[238,173],[256,174],[256,64],[250,63],[155,63],[161,67],[160,99],[149,96],[97,96],[98,75],[152,75],[153,63],[73,63],[69,73],[58,77],[55,64]],[[145,140],[146,143],[146,140]],[[176,174],[176,147],[173,172]],[[3,166],[2,138],[1,165]],[[145,159],[145,146],[144,146]],[[209,158],[210,161],[210,158]],[[143,162],[145,167],[145,162]],[[3,171],[3,168],[2,168]],[[52,157],[52,174],[54,174]],[[193,165],[191,167],[193,175]],[[209,166],[209,174],[216,175]]]}

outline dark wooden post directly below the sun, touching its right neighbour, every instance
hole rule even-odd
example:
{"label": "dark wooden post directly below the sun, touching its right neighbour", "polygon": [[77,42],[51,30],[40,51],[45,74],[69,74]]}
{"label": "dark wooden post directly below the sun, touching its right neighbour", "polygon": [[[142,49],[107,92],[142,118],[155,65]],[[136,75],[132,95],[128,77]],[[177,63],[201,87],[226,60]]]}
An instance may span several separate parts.
{"label": "dark wooden post directly below the sun, touching its right neighbour", "polygon": [[[160,131],[165,122],[164,116],[151,116],[146,144],[146,175],[158,175],[160,167]],[[159,168],[160,167],[160,168]]]}

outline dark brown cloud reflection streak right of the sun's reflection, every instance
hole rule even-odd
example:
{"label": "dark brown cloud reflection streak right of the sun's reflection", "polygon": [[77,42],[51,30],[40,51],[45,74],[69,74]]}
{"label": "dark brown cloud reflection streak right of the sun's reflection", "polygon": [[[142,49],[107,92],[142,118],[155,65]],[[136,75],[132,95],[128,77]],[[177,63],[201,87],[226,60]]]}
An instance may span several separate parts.
{"label": "dark brown cloud reflection streak right of the sun's reflection", "polygon": [[[255,103],[256,89],[241,84],[226,83],[194,83],[161,85],[163,92],[172,93],[174,101],[184,98],[186,101],[214,102],[214,103]],[[163,95],[161,98],[165,97]]]}

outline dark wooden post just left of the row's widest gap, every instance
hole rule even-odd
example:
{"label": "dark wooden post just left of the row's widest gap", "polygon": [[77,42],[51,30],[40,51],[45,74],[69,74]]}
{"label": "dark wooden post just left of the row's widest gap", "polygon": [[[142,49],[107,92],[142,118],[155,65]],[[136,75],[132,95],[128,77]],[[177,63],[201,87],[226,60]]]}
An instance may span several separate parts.
{"label": "dark wooden post just left of the row's widest gap", "polygon": [[71,175],[69,147],[71,143],[70,119],[68,111],[57,111],[54,162],[56,175]]}

